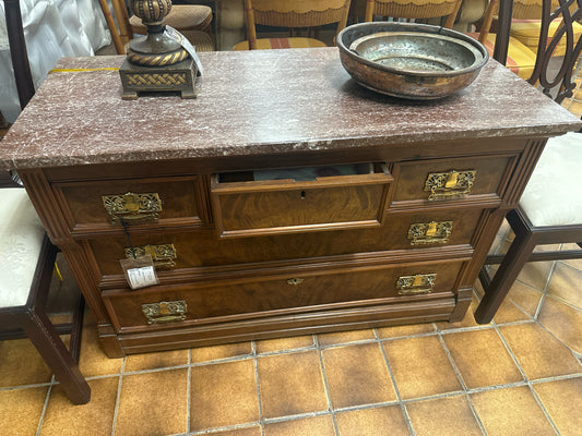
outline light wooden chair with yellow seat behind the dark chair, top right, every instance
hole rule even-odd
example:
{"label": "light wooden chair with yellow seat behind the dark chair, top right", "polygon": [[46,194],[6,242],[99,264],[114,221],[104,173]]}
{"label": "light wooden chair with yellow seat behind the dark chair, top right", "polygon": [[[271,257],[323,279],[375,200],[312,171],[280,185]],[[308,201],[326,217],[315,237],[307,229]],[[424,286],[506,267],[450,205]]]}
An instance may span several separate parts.
{"label": "light wooden chair with yellow seat behind the dark chair, top right", "polygon": [[[570,1],[570,4],[573,3],[573,1]],[[542,21],[539,20],[542,4],[543,0],[513,0],[506,66],[525,80],[532,76],[536,62],[536,51],[542,32]],[[551,8],[556,9],[558,7],[558,0],[553,0]],[[496,22],[498,9],[499,0],[490,0],[478,35],[478,40],[487,48],[490,55],[492,55],[495,49],[497,34],[489,31],[491,24]],[[546,37],[551,39],[559,26],[560,20],[551,22],[547,28]],[[582,25],[573,22],[571,32],[573,32],[574,38],[578,38],[582,34]],[[562,56],[565,50],[566,38],[562,38],[556,46],[555,55]]]}

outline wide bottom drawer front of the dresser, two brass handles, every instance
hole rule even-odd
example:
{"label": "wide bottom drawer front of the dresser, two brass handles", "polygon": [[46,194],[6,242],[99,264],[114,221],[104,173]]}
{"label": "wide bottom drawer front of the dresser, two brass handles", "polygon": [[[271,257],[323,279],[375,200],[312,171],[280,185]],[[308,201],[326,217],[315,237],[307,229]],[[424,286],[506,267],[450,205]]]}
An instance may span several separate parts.
{"label": "wide bottom drawer front of the dresser, two brass handles", "polygon": [[262,281],[247,277],[199,287],[110,290],[103,293],[103,299],[118,331],[146,326],[174,328],[194,323],[452,296],[462,264],[454,261],[358,271],[316,271],[313,275],[298,271]]}

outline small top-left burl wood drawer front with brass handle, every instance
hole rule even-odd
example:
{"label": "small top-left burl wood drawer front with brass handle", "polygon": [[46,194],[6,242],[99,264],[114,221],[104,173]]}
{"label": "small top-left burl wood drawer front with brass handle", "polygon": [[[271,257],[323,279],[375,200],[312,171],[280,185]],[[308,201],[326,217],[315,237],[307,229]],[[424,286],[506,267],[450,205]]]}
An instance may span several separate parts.
{"label": "small top-left burl wood drawer front with brass handle", "polygon": [[106,180],[55,184],[73,231],[128,226],[195,225],[203,210],[197,177]]}

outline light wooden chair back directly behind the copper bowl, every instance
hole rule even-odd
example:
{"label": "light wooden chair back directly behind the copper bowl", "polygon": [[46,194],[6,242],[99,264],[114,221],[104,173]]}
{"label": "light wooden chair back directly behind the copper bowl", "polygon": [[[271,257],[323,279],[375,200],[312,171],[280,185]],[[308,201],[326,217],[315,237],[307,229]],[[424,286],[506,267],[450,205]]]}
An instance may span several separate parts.
{"label": "light wooden chair back directly behind the copper bowl", "polygon": [[419,21],[446,17],[444,27],[451,28],[461,8],[462,0],[368,0],[366,21],[373,21],[377,15],[394,21]]}

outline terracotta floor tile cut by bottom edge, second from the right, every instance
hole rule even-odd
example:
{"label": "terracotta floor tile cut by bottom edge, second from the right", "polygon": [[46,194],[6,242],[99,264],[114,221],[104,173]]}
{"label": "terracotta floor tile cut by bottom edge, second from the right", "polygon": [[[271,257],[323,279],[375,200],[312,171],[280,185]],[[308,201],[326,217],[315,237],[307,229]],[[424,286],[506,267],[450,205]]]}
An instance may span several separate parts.
{"label": "terracotta floor tile cut by bottom edge, second from the right", "polygon": [[556,436],[526,386],[472,393],[471,401],[487,436]]}

